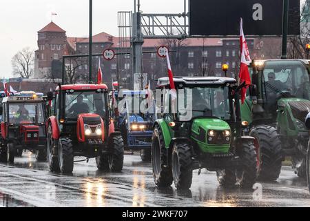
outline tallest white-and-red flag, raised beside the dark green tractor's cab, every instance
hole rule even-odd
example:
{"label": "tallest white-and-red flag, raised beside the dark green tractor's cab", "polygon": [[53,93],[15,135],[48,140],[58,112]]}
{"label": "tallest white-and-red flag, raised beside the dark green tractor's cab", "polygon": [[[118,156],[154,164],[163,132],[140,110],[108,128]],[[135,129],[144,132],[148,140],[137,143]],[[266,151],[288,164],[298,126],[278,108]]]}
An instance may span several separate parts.
{"label": "tallest white-and-red flag, raised beside the dark green tractor's cab", "polygon": [[241,102],[245,102],[245,94],[247,88],[251,84],[251,77],[249,75],[249,64],[251,63],[251,57],[249,55],[249,48],[247,47],[247,41],[245,40],[245,34],[242,28],[242,18],[240,19],[240,72],[239,83],[245,82],[246,87],[241,89]]}

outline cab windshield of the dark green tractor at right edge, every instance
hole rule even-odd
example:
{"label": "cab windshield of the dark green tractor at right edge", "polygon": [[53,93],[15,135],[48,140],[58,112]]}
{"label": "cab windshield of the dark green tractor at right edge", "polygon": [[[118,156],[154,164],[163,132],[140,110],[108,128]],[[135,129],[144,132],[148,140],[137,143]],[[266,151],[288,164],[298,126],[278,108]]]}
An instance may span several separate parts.
{"label": "cab windshield of the dark green tractor at right edge", "polygon": [[309,73],[301,61],[266,61],[262,74],[267,105],[274,106],[283,97],[309,99]]}

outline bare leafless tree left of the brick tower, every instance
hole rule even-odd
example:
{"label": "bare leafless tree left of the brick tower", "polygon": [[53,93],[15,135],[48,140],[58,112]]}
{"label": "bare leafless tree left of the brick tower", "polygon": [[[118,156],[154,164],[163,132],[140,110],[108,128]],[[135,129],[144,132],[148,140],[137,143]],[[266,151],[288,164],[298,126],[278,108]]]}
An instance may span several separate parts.
{"label": "bare leafless tree left of the brick tower", "polygon": [[13,75],[30,78],[34,73],[34,51],[23,48],[12,57]]}

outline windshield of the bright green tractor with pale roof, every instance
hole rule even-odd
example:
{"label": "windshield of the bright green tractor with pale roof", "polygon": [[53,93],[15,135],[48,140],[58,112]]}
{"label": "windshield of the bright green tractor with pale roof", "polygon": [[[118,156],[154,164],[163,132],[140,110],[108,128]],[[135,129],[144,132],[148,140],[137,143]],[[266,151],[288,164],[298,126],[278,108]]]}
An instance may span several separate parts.
{"label": "windshield of the bright green tractor with pale roof", "polygon": [[[189,97],[191,95],[192,97]],[[192,100],[192,117],[218,117],[220,119],[231,119],[229,111],[229,88],[195,87],[185,88],[185,99]],[[179,101],[183,102],[183,101]],[[187,102],[185,102],[185,105]],[[192,110],[189,110],[192,109]],[[179,110],[182,113],[182,110]]]}

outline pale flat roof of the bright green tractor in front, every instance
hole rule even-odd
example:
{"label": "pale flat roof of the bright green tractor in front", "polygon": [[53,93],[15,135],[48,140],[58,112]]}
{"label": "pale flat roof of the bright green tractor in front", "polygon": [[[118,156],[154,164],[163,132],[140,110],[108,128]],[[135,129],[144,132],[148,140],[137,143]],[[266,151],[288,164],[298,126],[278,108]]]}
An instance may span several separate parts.
{"label": "pale flat roof of the bright green tractor in front", "polygon": [[[236,79],[230,77],[174,77],[174,83],[185,85],[221,85],[235,84]],[[169,85],[169,77],[161,77],[158,79],[158,86]]]}

